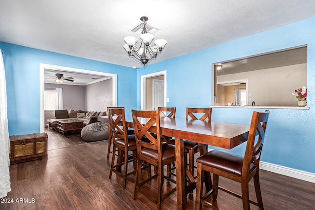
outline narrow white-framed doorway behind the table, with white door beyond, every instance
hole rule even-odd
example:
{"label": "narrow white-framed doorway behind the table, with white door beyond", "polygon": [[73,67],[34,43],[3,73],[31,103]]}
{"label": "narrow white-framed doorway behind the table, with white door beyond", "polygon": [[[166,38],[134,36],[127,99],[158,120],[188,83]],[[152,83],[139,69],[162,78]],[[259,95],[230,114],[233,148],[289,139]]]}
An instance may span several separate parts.
{"label": "narrow white-framed doorway behind the table, with white door beyond", "polygon": [[141,76],[141,110],[154,110],[158,106],[166,106],[166,71]]}

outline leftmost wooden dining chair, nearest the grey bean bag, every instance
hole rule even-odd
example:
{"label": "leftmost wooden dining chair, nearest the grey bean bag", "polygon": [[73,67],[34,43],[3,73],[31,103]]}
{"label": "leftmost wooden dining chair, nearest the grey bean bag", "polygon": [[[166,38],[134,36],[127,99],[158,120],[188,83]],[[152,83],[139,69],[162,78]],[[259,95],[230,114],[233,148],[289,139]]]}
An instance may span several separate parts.
{"label": "leftmost wooden dining chair, nearest the grey bean bag", "polygon": [[[113,155],[109,179],[112,177],[112,172],[123,176],[123,189],[125,189],[127,175],[136,172],[137,145],[135,135],[128,135],[127,133],[124,107],[108,107],[107,113],[109,117],[111,139],[113,141]],[[118,150],[118,157],[115,165],[116,149]],[[132,158],[128,157],[128,151],[132,151]],[[127,173],[129,161],[133,161],[134,170]],[[121,172],[122,165],[124,165],[123,173]]]}

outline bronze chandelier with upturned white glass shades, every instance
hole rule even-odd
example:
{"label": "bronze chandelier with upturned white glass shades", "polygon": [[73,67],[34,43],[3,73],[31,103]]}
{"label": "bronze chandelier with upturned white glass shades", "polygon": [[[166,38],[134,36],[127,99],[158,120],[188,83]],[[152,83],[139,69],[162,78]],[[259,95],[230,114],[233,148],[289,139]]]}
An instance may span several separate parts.
{"label": "bronze chandelier with upturned white glass shades", "polygon": [[135,43],[138,41],[136,37],[126,36],[124,38],[126,42],[126,44],[124,44],[124,48],[129,57],[140,60],[145,66],[149,60],[158,57],[158,54],[162,52],[162,49],[164,48],[167,41],[165,39],[157,39],[154,41],[154,44],[156,46],[150,46],[150,43],[154,39],[154,35],[152,33],[149,33],[146,29],[146,22],[149,20],[149,18],[146,16],[142,16],[140,20],[143,22],[143,29],[140,35],[140,46],[135,46]]}

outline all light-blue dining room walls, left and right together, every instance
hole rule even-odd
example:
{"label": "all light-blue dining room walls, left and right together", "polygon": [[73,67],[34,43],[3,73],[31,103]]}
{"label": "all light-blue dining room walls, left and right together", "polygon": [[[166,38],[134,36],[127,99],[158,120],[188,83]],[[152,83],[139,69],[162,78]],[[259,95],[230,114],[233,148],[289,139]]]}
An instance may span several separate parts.
{"label": "all light-blue dining room walls, left and right together", "polygon": [[[0,42],[6,73],[9,134],[40,131],[39,64],[47,63],[118,75],[118,106],[140,109],[142,75],[167,71],[168,106],[176,116],[186,107],[211,105],[211,65],[284,48],[308,45],[309,110],[270,109],[262,161],[315,173],[315,18],[264,31],[185,56],[135,70],[62,54]],[[165,49],[166,50],[166,49]],[[297,78],[298,79],[298,78]],[[135,81],[138,81],[137,83]],[[252,111],[261,109],[214,108],[213,121],[250,123]],[[236,152],[242,149],[235,148]]]}

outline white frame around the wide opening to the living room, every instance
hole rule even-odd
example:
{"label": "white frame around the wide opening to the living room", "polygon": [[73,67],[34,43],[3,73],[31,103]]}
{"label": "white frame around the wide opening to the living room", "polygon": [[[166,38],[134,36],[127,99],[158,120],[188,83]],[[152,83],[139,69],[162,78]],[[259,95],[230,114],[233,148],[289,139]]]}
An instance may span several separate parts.
{"label": "white frame around the wide opening to the living room", "polygon": [[110,74],[98,71],[91,71],[79,68],[70,68],[65,66],[51,65],[40,63],[40,74],[39,74],[39,98],[40,98],[40,132],[45,132],[45,113],[44,113],[44,89],[45,89],[45,69],[56,70],[56,71],[69,71],[83,74],[90,74],[95,76],[112,77],[113,85],[113,106],[117,106],[117,74]]}

